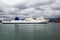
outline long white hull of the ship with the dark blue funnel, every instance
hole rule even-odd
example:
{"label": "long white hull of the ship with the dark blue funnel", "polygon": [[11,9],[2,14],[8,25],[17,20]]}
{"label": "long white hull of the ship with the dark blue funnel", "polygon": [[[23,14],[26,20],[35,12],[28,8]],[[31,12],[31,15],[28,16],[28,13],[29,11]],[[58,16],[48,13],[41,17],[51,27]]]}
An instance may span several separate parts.
{"label": "long white hull of the ship with the dark blue funnel", "polygon": [[3,24],[41,24],[48,23],[47,20],[44,21],[21,21],[21,20],[13,20],[13,21],[2,21]]}

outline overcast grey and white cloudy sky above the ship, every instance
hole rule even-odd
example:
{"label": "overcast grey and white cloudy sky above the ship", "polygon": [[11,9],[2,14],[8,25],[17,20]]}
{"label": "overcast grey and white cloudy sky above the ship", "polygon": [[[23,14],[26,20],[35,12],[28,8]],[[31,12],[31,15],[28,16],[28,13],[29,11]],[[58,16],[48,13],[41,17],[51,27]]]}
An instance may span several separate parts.
{"label": "overcast grey and white cloudy sky above the ship", "polygon": [[60,15],[60,0],[0,0],[1,15],[57,17]]}

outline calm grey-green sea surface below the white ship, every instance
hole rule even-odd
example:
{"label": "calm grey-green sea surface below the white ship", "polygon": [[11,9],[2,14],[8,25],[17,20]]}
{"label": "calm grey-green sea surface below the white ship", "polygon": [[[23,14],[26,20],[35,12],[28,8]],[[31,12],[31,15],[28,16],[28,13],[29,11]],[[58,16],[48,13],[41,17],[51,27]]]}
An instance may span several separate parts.
{"label": "calm grey-green sea surface below the white ship", "polygon": [[60,23],[0,24],[0,40],[60,40]]}

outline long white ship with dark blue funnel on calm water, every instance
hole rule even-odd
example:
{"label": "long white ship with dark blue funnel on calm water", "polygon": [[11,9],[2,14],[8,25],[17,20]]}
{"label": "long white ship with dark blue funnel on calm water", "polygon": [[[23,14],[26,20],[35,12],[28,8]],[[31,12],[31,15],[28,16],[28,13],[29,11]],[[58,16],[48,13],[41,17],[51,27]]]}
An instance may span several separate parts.
{"label": "long white ship with dark blue funnel on calm water", "polygon": [[25,18],[23,20],[19,20],[18,17],[15,20],[3,20],[3,24],[41,24],[41,23],[48,23],[48,19],[44,19],[43,17],[40,18]]}

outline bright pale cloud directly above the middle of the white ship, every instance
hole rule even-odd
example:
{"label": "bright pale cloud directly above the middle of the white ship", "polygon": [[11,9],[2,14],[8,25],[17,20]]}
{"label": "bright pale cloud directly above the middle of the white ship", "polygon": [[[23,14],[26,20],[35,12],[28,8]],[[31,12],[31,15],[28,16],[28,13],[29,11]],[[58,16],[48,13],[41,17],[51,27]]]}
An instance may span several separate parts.
{"label": "bright pale cloud directly above the middle of the white ship", "polygon": [[22,10],[20,13],[21,13],[20,15],[24,15],[27,17],[28,16],[29,17],[39,17],[44,14],[43,11],[36,10],[35,8],[27,8],[25,10]]}

